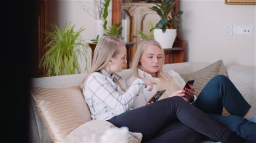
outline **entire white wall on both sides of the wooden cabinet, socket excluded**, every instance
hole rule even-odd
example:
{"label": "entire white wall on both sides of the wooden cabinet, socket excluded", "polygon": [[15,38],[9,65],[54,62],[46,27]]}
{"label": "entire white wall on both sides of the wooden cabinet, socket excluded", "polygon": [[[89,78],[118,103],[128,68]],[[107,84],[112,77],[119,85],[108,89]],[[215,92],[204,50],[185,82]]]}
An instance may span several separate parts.
{"label": "entire white wall on both sides of the wooden cabinet, socket excluded", "polygon": [[[94,8],[94,1],[55,1],[50,2],[49,18],[51,23],[63,26],[73,21],[77,28],[84,27],[82,39],[96,38],[95,18],[83,8]],[[84,6],[83,6],[84,5]],[[109,5],[112,9],[112,4]],[[179,38],[187,42],[187,61],[214,62],[223,59],[225,65],[255,66],[255,5],[226,5],[224,0],[190,1],[180,0],[183,30]],[[112,13],[109,12],[108,26]],[[230,36],[228,25],[250,25],[252,36]]]}

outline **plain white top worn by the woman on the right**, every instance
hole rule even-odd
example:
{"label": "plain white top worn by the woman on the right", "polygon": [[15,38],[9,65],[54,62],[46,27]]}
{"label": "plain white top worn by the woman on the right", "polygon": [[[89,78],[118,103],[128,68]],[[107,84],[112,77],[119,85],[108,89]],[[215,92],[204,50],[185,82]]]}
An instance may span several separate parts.
{"label": "plain white top worn by the woman on the right", "polygon": [[[165,72],[167,74],[169,74],[170,76],[175,77],[175,79],[181,85],[181,87],[184,87],[185,81],[179,75],[179,73],[177,73],[174,70],[165,70]],[[141,78],[153,79],[153,80],[159,81],[159,78],[152,77],[149,73],[144,72],[141,69],[138,69],[138,74],[139,74],[139,76],[141,76]],[[129,78],[126,82],[127,87],[129,87],[132,84],[132,82],[134,82],[136,79],[138,79],[138,78],[136,78],[134,75],[131,78]],[[148,88],[149,87],[144,88],[143,91],[141,92],[141,94],[139,94],[139,96],[134,101],[134,104],[132,106],[133,108],[139,108],[139,107],[142,107],[143,105],[145,105],[148,102],[148,100],[155,94],[155,92],[158,91],[158,89],[156,88],[156,85],[154,85],[154,88],[152,91],[148,91]],[[194,101],[191,103],[193,104],[195,101],[196,101],[196,96],[194,95]]]}

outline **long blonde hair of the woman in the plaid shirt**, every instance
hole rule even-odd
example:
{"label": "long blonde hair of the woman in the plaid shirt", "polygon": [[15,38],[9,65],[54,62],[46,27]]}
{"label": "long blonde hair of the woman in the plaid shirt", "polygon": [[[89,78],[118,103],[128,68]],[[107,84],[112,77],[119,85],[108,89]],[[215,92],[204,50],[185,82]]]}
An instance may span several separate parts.
{"label": "long blonde hair of the woman in the plaid shirt", "polygon": [[118,54],[118,47],[121,46],[125,46],[124,41],[111,36],[103,36],[101,40],[98,41],[94,50],[91,70],[88,72],[87,76],[80,85],[80,89],[82,91],[90,74],[102,70],[103,67],[107,65],[109,59]]}

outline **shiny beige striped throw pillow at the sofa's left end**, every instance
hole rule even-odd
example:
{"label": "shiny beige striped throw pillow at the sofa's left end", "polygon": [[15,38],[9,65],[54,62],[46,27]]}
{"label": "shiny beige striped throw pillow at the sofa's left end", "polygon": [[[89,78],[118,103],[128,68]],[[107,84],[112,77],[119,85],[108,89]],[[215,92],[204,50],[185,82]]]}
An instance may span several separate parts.
{"label": "shiny beige striped throw pillow at the sofa's left end", "polygon": [[54,142],[91,120],[91,113],[79,86],[69,88],[31,88],[35,107]]}

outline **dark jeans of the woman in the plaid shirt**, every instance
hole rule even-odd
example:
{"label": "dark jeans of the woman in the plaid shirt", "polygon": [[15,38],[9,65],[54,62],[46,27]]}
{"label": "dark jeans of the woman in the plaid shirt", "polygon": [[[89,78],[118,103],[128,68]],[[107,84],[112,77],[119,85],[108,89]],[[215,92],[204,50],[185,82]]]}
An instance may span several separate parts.
{"label": "dark jeans of the woman in the plaid shirt", "polygon": [[[177,119],[181,122],[175,122]],[[142,142],[199,142],[201,134],[224,142],[231,133],[178,96],[126,111],[108,121],[142,133]]]}

